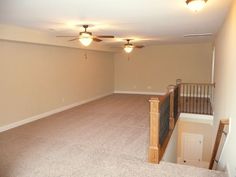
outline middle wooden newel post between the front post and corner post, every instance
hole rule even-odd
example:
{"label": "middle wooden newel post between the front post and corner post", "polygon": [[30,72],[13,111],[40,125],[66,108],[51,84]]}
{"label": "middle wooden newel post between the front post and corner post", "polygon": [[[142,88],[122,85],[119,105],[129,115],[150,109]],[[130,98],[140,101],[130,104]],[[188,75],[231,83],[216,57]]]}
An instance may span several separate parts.
{"label": "middle wooden newel post between the front post and corner post", "polygon": [[174,119],[174,89],[175,85],[168,86],[168,92],[170,93],[170,118],[169,118],[169,129],[173,130],[175,127]]}

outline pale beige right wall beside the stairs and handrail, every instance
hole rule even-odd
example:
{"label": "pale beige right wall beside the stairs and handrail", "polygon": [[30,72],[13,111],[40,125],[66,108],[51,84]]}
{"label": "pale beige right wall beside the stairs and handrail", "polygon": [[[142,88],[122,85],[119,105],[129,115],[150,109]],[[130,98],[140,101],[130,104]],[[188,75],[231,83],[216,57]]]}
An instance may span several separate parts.
{"label": "pale beige right wall beside the stairs and handrail", "polygon": [[219,119],[231,118],[230,133],[220,160],[230,176],[236,176],[236,1],[216,39],[215,61],[215,130]]}

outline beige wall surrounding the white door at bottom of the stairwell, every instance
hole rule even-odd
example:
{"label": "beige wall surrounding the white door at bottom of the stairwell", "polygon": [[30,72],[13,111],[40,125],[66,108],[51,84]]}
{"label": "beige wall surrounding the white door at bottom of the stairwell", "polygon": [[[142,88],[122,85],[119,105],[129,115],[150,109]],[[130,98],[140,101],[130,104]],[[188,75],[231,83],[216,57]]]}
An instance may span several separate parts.
{"label": "beige wall surrounding the white door at bottom of the stairwell", "polygon": [[179,120],[178,125],[178,150],[177,156],[181,157],[182,133],[193,133],[203,135],[203,161],[209,162],[212,150],[212,129],[209,124]]}

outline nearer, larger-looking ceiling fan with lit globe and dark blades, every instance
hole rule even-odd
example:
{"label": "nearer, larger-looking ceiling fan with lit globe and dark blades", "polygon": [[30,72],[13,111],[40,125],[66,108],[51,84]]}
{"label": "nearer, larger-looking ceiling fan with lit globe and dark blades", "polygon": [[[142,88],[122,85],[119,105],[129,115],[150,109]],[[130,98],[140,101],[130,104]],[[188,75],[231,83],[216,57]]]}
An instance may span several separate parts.
{"label": "nearer, larger-looking ceiling fan with lit globe and dark blades", "polygon": [[101,42],[102,39],[100,38],[114,38],[111,35],[100,35],[100,36],[93,36],[93,34],[87,31],[89,25],[83,25],[84,31],[79,33],[79,36],[56,36],[56,37],[73,37],[69,41],[79,40],[84,46],[89,46],[92,41],[94,42]]}

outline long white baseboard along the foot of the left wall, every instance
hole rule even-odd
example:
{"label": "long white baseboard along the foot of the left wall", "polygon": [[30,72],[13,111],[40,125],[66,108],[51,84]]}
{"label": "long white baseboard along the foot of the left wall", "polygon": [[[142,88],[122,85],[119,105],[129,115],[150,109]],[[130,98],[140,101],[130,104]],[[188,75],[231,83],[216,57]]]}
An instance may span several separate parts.
{"label": "long white baseboard along the foot of the left wall", "polygon": [[15,127],[19,127],[21,125],[24,125],[24,124],[27,124],[27,123],[30,123],[30,122],[33,122],[33,121],[36,121],[36,120],[48,117],[50,115],[53,115],[53,114],[56,114],[56,113],[59,113],[59,112],[71,109],[73,107],[76,107],[76,106],[79,106],[79,105],[82,105],[82,104],[85,104],[85,103],[88,103],[88,102],[100,99],[102,97],[105,97],[105,96],[108,96],[108,95],[111,95],[111,94],[113,94],[113,93],[107,93],[107,94],[104,94],[104,95],[98,95],[98,96],[93,97],[93,98],[89,98],[89,99],[86,99],[86,100],[83,100],[83,101],[79,101],[79,102],[76,102],[76,103],[73,103],[73,104],[70,104],[70,105],[67,105],[67,106],[56,108],[54,110],[47,111],[47,112],[44,112],[42,114],[38,114],[38,115],[35,115],[35,116],[32,116],[32,117],[28,117],[28,118],[23,119],[21,121],[14,122],[14,123],[11,123],[11,124],[8,124],[8,125],[0,127],[0,132],[9,130],[9,129],[12,129],[12,128],[15,128]]}

